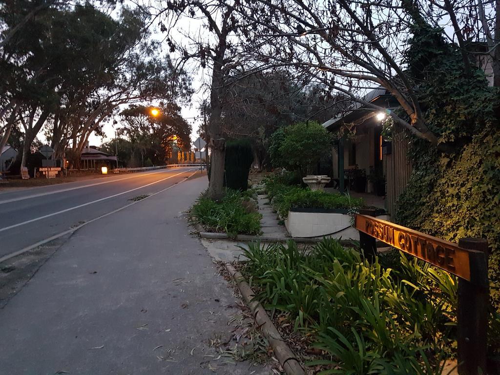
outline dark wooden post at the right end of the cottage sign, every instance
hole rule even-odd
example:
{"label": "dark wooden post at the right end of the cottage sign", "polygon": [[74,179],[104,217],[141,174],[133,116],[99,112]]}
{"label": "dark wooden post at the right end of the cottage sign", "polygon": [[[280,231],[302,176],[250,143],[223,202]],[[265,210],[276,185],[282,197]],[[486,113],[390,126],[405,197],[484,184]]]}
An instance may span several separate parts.
{"label": "dark wooden post at the right end of the cottage sign", "polygon": [[458,246],[470,250],[470,281],[458,278],[457,352],[459,375],[486,374],[488,326],[488,241],[460,238]]}

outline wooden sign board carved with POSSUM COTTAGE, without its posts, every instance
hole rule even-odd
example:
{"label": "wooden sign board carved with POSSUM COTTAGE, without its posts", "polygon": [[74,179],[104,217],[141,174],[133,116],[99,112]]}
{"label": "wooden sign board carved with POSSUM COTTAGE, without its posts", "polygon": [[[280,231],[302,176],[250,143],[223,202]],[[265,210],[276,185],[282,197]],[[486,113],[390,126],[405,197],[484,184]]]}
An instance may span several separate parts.
{"label": "wooden sign board carved with POSSUM COTTAGE, without its posts", "polygon": [[475,275],[479,273],[475,272],[476,268],[484,267],[477,264],[482,263],[484,257],[480,251],[464,249],[453,242],[362,214],[356,215],[355,228],[467,281],[483,283],[482,277]]}

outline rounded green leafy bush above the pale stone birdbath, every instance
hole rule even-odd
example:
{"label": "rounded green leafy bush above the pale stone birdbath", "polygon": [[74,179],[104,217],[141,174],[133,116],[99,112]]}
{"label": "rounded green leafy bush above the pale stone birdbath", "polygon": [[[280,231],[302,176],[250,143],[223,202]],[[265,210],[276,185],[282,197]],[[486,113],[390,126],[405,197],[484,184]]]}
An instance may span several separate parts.
{"label": "rounded green leafy bush above the pale stone birdbath", "polygon": [[331,152],[332,141],[331,134],[315,121],[285,126],[272,134],[272,164],[301,175],[314,173],[317,163]]}

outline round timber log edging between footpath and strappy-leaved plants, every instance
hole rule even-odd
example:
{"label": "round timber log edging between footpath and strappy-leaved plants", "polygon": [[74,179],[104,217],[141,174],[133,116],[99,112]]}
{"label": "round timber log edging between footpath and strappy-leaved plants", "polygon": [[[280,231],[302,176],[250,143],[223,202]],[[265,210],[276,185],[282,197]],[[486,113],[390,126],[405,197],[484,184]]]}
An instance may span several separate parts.
{"label": "round timber log edging between footpath and strappy-leaved plants", "polygon": [[267,338],[272,347],[274,355],[279,360],[281,367],[287,375],[305,375],[305,372],[298,362],[295,354],[285,343],[278,330],[272,323],[269,316],[259,301],[254,299],[255,294],[244,280],[244,277],[230,263],[225,263],[225,268],[236,282],[241,295],[252,312],[253,318],[262,329],[262,334]]}

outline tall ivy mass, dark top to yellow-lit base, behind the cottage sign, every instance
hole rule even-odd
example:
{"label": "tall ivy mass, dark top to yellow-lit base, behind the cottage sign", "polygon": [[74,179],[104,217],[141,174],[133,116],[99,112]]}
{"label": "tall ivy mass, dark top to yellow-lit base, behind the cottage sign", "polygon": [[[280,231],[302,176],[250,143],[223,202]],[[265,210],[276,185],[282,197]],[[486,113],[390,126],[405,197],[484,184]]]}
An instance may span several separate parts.
{"label": "tall ivy mass, dark top to yellow-lit base, behind the cottage sign", "polygon": [[415,25],[406,53],[437,147],[408,137],[413,170],[397,202],[396,222],[457,241],[490,244],[493,306],[500,311],[500,96],[477,68],[467,74],[442,30]]}

